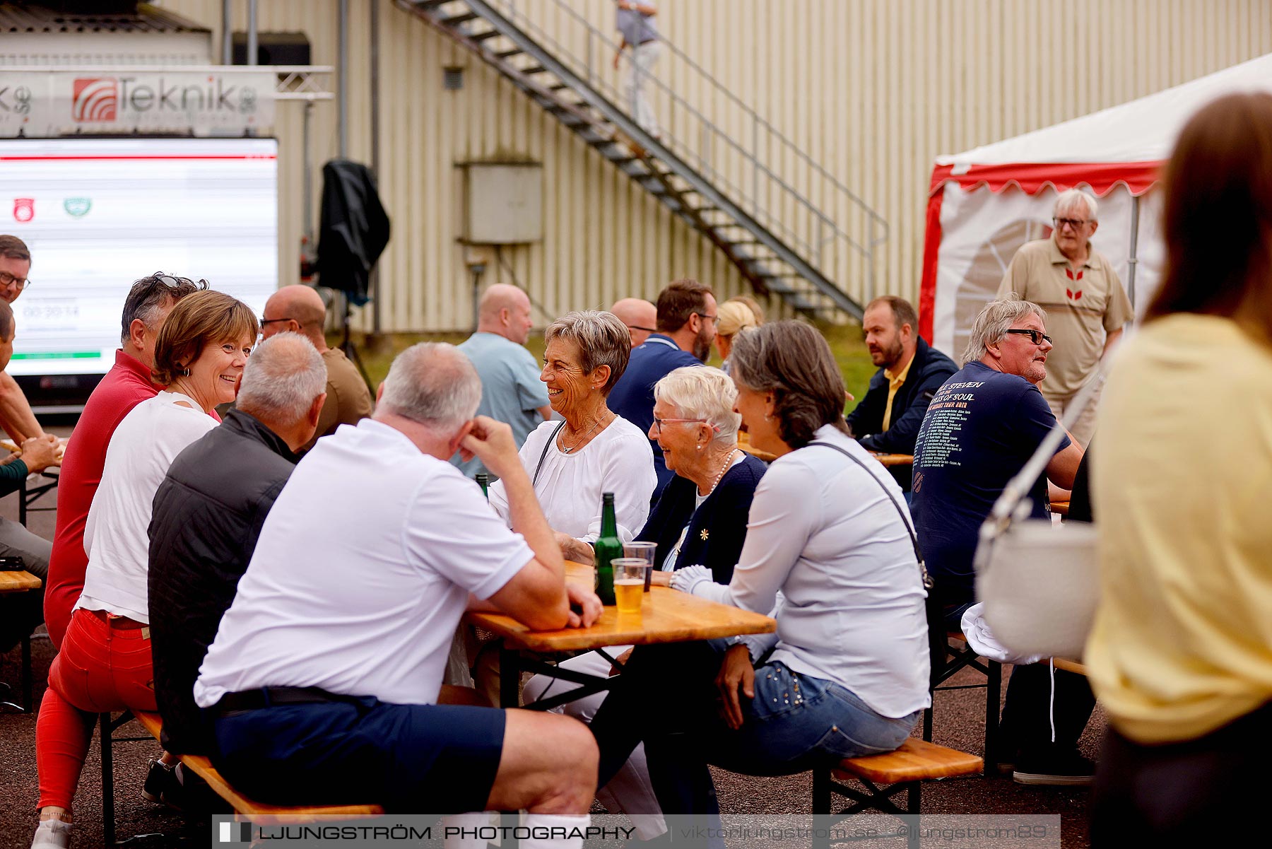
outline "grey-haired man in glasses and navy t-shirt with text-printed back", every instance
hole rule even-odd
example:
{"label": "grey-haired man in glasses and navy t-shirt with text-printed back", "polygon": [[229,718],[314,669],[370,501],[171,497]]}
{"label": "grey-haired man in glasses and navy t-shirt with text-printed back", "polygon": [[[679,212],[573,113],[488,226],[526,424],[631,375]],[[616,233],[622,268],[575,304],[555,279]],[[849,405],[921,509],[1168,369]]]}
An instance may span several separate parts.
{"label": "grey-haired man in glasses and navy t-shirt with text-printed back", "polygon": [[[939,605],[950,630],[976,602],[972,558],[993,503],[1029,461],[1056,416],[1038,392],[1052,340],[1047,313],[1028,300],[993,300],[981,309],[963,351],[963,368],[936,391],[915,446],[911,514]],[[1065,437],[1029,491],[1033,516],[1047,518],[1047,481],[1074,485],[1082,449]],[[1090,784],[1093,765],[1077,738],[1095,706],[1086,678],[1056,672],[1054,742],[1044,664],[1016,666],[1002,710],[1013,776],[1021,784]],[[1015,752],[1014,759],[1011,752]]]}

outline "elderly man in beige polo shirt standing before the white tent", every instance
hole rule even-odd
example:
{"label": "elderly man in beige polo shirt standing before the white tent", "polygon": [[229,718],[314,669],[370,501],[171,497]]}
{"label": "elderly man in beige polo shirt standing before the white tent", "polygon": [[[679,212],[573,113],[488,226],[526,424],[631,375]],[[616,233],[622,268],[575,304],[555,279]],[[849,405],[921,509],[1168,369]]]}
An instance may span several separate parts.
{"label": "elderly man in beige polo shirt standing before the white tent", "polygon": [[[1098,213],[1099,205],[1086,192],[1061,192],[1052,211],[1051,238],[1021,246],[999,286],[999,298],[1032,300],[1051,316],[1056,354],[1038,388],[1057,419],[1133,316],[1113,265],[1091,247]],[[1098,405],[1096,393],[1071,428],[1084,448],[1091,440]]]}

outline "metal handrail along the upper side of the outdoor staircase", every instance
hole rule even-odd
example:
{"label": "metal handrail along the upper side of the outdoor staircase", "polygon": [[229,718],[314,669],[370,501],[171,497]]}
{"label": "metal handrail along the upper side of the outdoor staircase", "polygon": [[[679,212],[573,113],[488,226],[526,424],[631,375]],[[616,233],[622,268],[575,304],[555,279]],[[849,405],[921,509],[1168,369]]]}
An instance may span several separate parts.
{"label": "metal handrail along the upper side of the outdoor staircase", "polygon": [[[589,85],[608,97],[616,103],[626,102],[623,94],[618,88],[612,84],[605,76],[597,73],[599,62],[604,60],[604,51],[617,50],[617,42],[611,39],[604,32],[598,29],[586,18],[579,14],[577,10],[571,8],[565,0],[552,0],[552,3],[560,9],[569,19],[572,19],[586,36],[585,41],[585,56],[580,57],[575,52],[561,43],[561,39],[556,36],[544,31],[543,27],[538,25],[533,19],[530,19],[524,9],[518,9],[515,0],[487,0],[494,6],[502,8],[504,13],[509,19],[515,20],[516,25],[532,33],[534,38],[544,46],[551,47],[556,56],[566,65],[572,65],[575,73],[581,79],[586,80]],[[543,0],[537,0],[537,5],[542,4]],[[791,243],[800,253],[812,260],[817,266],[823,267],[826,271],[834,274],[837,265],[832,257],[829,263],[826,260],[826,247],[834,243],[836,241],[842,241],[846,243],[855,253],[864,257],[868,263],[868,289],[869,294],[874,294],[874,258],[875,249],[879,244],[888,238],[888,223],[871,209],[859,195],[852,192],[847,186],[845,186],[840,179],[831,174],[820,163],[814,160],[805,150],[799,148],[794,141],[791,141],[780,130],[772,126],[772,123],[759,116],[752,107],[747,106],[742,99],[739,99],[733,92],[725,88],[719,80],[716,80],[711,74],[702,69],[697,62],[689,59],[682,50],[679,50],[674,43],[668,41],[665,37],[660,38],[664,50],[673,57],[683,62],[683,65],[701,78],[709,87],[715,92],[724,95],[728,103],[731,103],[738,109],[742,111],[743,123],[749,123],[750,129],[750,145],[749,149],[743,143],[736,140],[731,134],[724,131],[714,121],[707,118],[698,108],[688,103],[683,97],[677,94],[669,85],[667,85],[658,75],[651,74],[646,78],[647,84],[651,88],[656,88],[663,92],[665,97],[672,102],[672,122],[677,118],[677,109],[682,111],[688,116],[689,120],[697,123],[698,135],[698,150],[695,151],[687,139],[691,139],[695,134],[681,134],[681,132],[668,132],[663,144],[675,151],[686,162],[697,162],[698,171],[719,185],[721,188],[728,191],[731,196],[740,200],[748,211],[756,218],[756,220],[762,220],[771,230],[780,233],[785,241]],[[598,51],[598,46],[600,50]],[[630,61],[630,60],[627,60]],[[851,207],[860,210],[865,215],[865,233],[857,238],[845,232],[838,223],[831,218],[827,213],[819,209],[809,197],[791,186],[791,183],[776,173],[768,162],[761,157],[761,140],[763,140],[764,146],[773,153],[780,151],[780,154],[790,154],[790,157],[798,160],[803,167],[806,167],[812,174],[815,174],[818,179],[818,186],[823,190],[833,190],[840,193],[845,200],[847,200]],[[712,164],[712,157],[710,153],[711,143],[722,143],[726,151],[733,151],[738,160],[743,163],[743,168],[749,168],[750,171],[750,187],[739,185],[734,179],[730,179],[726,173],[717,169]],[[777,154],[773,154],[776,157]],[[777,213],[771,210],[777,210],[782,206],[781,197],[771,199],[764,202],[762,195],[780,195],[786,200],[794,202],[794,205],[808,216],[808,224],[799,232],[794,229],[792,221],[780,216]],[[791,216],[798,218],[798,216]]]}

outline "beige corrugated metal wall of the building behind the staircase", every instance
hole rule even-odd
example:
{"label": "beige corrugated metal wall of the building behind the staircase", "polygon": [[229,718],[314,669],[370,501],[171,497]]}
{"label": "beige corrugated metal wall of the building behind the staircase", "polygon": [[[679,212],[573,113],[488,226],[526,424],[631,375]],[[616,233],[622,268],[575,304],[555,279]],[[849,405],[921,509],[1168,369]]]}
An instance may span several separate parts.
{"label": "beige corrugated metal wall of the building behind the staircase", "polygon": [[[646,196],[497,74],[389,0],[352,0],[349,155],[369,153],[369,4],[380,3],[382,195],[394,237],[380,263],[385,331],[464,328],[469,275],[455,163],[530,158],[544,168],[544,241],[502,260],[547,316],[617,297],[650,297],[674,276],[698,276],[725,295],[745,288],[705,239]],[[553,0],[502,0],[579,55],[577,25]],[[164,8],[219,29],[220,0]],[[611,0],[572,0],[598,28]],[[878,288],[915,297],[932,159],[1156,92],[1272,51],[1267,0],[661,0],[667,38],[725,83],[890,225]],[[314,64],[337,59],[336,0],[266,0],[261,29],[303,29]],[[235,28],[245,3],[234,4]],[[219,45],[214,33],[214,45]],[[616,80],[608,56],[599,74]],[[446,92],[445,66],[466,67]],[[725,98],[664,56],[658,73],[736,136]],[[335,83],[333,83],[335,84]],[[663,108],[669,108],[664,102]],[[672,116],[669,116],[672,117]],[[674,117],[673,117],[674,121]],[[336,106],[314,107],[312,155],[336,155]],[[281,279],[294,281],[300,221],[300,107],[280,108]],[[675,127],[670,127],[674,130]],[[763,149],[763,148],[762,148]],[[742,167],[714,149],[715,168]],[[861,215],[792,155],[770,167],[806,191],[850,234]],[[314,191],[321,185],[315,177]],[[782,215],[798,213],[784,206]],[[487,255],[486,281],[510,280]],[[862,266],[834,272],[861,291]],[[366,311],[369,313],[369,311]],[[363,326],[369,326],[364,316]]]}

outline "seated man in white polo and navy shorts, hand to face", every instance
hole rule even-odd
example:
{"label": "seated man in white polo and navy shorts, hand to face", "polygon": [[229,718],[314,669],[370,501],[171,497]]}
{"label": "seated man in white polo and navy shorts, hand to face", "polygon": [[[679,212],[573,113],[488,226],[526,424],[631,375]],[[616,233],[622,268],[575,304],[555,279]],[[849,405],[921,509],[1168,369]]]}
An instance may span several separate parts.
{"label": "seated man in white polo and navy shorts, hand to face", "polygon": [[[528,825],[565,832],[539,827],[523,845],[580,845],[551,835],[588,825],[586,727],[435,704],[469,598],[534,629],[600,614],[590,589],[565,583],[511,430],[472,417],[480,397],[462,353],[415,345],[393,361],[374,417],[321,439],[279,494],[195,685],[215,724],[212,760],[248,796],[525,808]],[[516,532],[446,462],[455,451],[505,481]]]}

